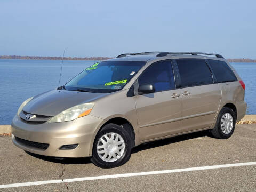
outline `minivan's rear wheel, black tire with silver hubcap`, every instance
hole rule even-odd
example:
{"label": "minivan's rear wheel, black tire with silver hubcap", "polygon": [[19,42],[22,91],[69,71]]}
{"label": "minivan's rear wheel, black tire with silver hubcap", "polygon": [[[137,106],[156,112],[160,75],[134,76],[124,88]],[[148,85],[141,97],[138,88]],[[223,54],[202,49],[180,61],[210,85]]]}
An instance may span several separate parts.
{"label": "minivan's rear wheel, black tire with silver hubcap", "polygon": [[228,139],[234,133],[235,125],[236,125],[236,115],[234,111],[228,107],[223,107],[220,110],[215,127],[211,130],[211,134],[213,135],[213,137],[218,139]]}

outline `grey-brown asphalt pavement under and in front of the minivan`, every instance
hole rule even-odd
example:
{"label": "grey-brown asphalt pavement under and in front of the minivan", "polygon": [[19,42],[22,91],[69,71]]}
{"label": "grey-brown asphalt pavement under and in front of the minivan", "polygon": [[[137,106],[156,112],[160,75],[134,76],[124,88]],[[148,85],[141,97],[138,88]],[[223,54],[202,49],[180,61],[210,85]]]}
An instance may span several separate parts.
{"label": "grey-brown asphalt pavement under and in front of the minivan", "polygon": [[[214,139],[202,131],[145,143],[133,149],[129,162],[114,169],[100,169],[90,158],[54,159],[29,154],[15,147],[8,136],[0,137],[0,146],[0,191],[256,191],[256,164],[239,165],[256,162],[256,124],[236,125],[227,140]],[[238,165],[91,178],[227,164]],[[67,180],[73,178],[89,179]],[[40,181],[52,182],[39,185]],[[31,186],[10,185],[24,182]],[[3,185],[8,186],[1,188]]]}

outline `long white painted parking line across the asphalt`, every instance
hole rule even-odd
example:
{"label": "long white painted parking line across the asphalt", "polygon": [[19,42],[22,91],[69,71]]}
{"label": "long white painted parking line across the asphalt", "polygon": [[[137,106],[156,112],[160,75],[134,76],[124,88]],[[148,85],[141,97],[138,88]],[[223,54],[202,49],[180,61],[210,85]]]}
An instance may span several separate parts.
{"label": "long white painted parking line across the asphalt", "polygon": [[90,180],[110,179],[110,178],[135,177],[135,176],[142,176],[142,175],[154,175],[154,174],[178,173],[178,172],[187,172],[187,171],[210,170],[210,169],[220,169],[220,168],[248,166],[248,165],[256,165],[256,162],[234,163],[234,164],[212,165],[212,166],[201,166],[201,167],[190,167],[190,168],[184,168],[184,169],[148,171],[148,172],[138,172],[138,173],[102,175],[102,176],[95,176],[95,177],[64,179],[63,181],[62,180],[49,180],[49,181],[13,183],[13,184],[0,185],[0,188],[24,187],[24,186],[35,186],[35,185],[44,185],[44,184],[52,184],[52,183],[62,183],[62,182],[67,183],[67,182],[90,181]]}

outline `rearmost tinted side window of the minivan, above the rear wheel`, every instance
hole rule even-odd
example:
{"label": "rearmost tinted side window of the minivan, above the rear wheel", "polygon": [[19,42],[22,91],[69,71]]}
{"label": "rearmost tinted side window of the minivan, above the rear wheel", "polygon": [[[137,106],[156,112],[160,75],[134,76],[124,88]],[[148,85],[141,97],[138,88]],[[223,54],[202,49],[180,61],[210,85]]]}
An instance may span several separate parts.
{"label": "rearmost tinted side window of the minivan, above the rear wheel", "polygon": [[208,59],[218,83],[237,81],[237,78],[230,67],[224,61]]}

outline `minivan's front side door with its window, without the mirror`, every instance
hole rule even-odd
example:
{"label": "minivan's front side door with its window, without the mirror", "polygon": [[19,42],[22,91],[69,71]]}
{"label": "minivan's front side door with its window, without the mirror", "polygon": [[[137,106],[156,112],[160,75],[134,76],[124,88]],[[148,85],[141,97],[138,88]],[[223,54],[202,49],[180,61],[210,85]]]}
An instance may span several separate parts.
{"label": "minivan's front side door with its window, without the mirror", "polygon": [[180,132],[181,97],[173,74],[170,60],[158,61],[145,69],[134,84],[135,92],[143,84],[153,84],[156,89],[154,93],[135,96],[141,140]]}

